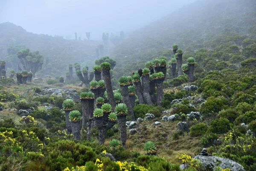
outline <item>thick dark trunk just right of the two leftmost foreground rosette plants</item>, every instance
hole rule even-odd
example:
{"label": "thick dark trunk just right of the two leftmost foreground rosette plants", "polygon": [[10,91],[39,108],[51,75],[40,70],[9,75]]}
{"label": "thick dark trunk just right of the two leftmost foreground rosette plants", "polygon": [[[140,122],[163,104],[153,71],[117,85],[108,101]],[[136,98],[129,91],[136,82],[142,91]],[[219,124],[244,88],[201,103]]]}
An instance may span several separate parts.
{"label": "thick dark trunk just right of the two leftmost foreground rosette plants", "polygon": [[82,129],[86,130],[85,123],[87,123],[87,140],[90,140],[90,131],[93,128],[93,110],[94,110],[94,99],[81,99],[82,107]]}

